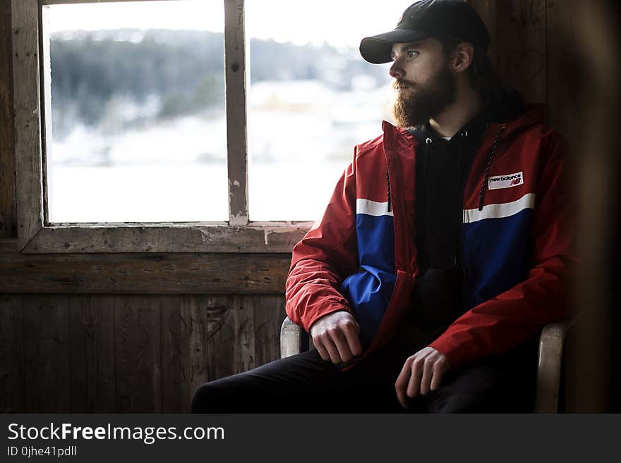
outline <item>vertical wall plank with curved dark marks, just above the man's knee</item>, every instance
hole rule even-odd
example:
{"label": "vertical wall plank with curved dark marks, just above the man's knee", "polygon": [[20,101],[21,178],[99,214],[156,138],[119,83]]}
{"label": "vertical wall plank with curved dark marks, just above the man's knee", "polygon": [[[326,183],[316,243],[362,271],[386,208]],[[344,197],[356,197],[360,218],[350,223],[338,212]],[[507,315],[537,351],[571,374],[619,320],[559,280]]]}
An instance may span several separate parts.
{"label": "vertical wall plank with curved dark marks, just above the man's knee", "polygon": [[236,373],[233,307],[232,296],[198,297],[198,309],[205,317],[208,381]]}

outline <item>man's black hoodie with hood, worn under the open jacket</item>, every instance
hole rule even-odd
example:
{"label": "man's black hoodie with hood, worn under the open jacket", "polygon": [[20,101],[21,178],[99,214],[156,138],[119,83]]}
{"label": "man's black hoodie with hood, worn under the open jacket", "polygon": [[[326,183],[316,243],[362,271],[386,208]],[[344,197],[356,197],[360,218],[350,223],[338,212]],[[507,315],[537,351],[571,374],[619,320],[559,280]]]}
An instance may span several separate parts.
{"label": "man's black hoodie with hood, worn under the open jacket", "polygon": [[426,123],[410,132],[423,147],[416,157],[416,249],[421,275],[415,285],[416,325],[443,329],[462,310],[462,210],[472,160],[488,123],[519,116],[524,105],[517,92],[485,109],[450,140]]}

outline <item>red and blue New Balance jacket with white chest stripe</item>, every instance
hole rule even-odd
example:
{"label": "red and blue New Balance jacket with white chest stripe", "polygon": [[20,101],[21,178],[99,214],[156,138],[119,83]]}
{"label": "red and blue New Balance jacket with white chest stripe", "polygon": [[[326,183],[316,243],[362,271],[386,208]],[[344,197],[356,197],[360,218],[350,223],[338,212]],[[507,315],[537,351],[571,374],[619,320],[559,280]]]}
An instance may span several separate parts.
{"label": "red and blue New Balance jacket with white chest stripe", "polygon": [[[287,315],[306,331],[346,310],[370,340],[392,338],[411,306],[416,261],[418,140],[383,123],[359,144],[330,203],[293,250]],[[430,346],[452,366],[502,354],[567,316],[574,202],[566,143],[543,125],[543,107],[490,123],[463,200],[464,314]],[[414,352],[412,352],[414,353]]]}

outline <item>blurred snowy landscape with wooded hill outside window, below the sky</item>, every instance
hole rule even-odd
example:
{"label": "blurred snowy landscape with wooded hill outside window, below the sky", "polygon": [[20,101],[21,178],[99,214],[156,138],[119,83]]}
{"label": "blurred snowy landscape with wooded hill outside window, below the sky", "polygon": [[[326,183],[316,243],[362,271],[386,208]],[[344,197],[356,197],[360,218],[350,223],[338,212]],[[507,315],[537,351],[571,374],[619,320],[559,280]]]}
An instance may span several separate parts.
{"label": "blurred snowy landscape with wooded hill outside window, below the sky", "polygon": [[[222,35],[203,33],[204,49],[190,53],[195,34],[52,35],[51,222],[227,221]],[[150,63],[140,47],[153,43]],[[312,66],[275,58],[309,53]],[[140,56],[140,67],[125,55]],[[255,40],[249,82],[251,220],[313,221],[354,144],[390,118],[386,68],[361,63],[356,50]]]}

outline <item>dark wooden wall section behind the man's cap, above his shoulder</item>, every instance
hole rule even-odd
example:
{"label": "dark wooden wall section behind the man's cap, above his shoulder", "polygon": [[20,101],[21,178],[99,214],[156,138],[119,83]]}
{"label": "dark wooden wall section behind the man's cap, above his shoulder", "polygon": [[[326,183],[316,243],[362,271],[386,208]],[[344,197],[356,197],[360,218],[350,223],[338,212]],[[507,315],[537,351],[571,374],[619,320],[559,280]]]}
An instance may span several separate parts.
{"label": "dark wooden wall section behind the man's cap, above his shoulder", "polygon": [[577,0],[469,0],[488,25],[488,50],[502,80],[526,103],[545,104],[550,128],[577,140],[580,75]]}

